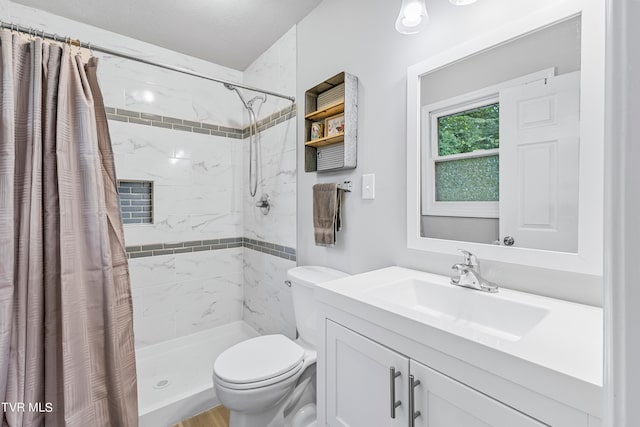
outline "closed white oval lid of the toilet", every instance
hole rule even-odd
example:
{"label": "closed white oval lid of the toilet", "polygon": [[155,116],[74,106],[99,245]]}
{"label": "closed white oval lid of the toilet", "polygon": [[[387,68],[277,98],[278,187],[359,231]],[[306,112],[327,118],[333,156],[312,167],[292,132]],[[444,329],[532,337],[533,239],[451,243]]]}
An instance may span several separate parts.
{"label": "closed white oval lid of the toilet", "polygon": [[213,371],[230,383],[253,383],[282,375],[299,366],[303,358],[302,347],[284,335],[264,335],[222,352]]}

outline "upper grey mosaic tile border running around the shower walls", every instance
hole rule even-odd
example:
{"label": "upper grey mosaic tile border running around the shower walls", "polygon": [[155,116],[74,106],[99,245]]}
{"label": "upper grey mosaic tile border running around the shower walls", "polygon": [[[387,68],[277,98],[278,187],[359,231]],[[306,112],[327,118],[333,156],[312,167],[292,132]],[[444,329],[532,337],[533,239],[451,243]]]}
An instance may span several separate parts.
{"label": "upper grey mosaic tile border running around the shower walls", "polygon": [[[203,135],[223,136],[226,138],[243,139],[249,136],[248,126],[244,129],[238,129],[205,122],[195,122],[192,120],[180,119],[178,117],[160,116],[158,114],[144,113],[142,111],[125,110],[123,108],[105,107],[105,110],[107,112],[108,120],[115,120],[118,122],[160,127],[183,132],[193,132]],[[258,132],[262,132],[263,130],[269,129],[295,117],[296,112],[296,104],[292,104],[280,111],[276,111],[269,117],[265,117],[258,121]]]}

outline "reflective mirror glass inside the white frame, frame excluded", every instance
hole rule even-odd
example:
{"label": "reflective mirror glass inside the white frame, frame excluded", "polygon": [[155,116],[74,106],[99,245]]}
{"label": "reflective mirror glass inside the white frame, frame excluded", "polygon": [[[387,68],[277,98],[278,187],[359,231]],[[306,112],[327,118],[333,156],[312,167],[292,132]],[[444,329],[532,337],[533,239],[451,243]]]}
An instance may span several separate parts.
{"label": "reflective mirror glass inside the white frame, frame excluded", "polygon": [[577,252],[580,23],[420,77],[423,237]]}

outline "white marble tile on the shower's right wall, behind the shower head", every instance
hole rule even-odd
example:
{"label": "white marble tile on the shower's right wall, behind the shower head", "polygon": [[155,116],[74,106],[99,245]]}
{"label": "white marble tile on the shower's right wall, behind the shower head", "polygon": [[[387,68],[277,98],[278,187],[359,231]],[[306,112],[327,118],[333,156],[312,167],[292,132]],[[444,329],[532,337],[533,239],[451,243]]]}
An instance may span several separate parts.
{"label": "white marble tile on the shower's right wall, behind the shower head", "polygon": [[[296,88],[296,28],[293,27],[263,53],[244,73],[247,84],[294,94]],[[283,105],[282,102],[285,102]],[[265,104],[258,117],[287,107]],[[286,120],[258,135],[260,163],[256,197],[269,195],[271,211],[263,215],[249,195],[249,176],[243,172],[243,223],[245,238],[296,246],[296,120]],[[249,139],[243,141],[243,162],[249,162]],[[246,322],[262,333],[295,337],[291,288],[284,285],[295,262],[278,259],[250,248],[244,250],[244,313]]]}

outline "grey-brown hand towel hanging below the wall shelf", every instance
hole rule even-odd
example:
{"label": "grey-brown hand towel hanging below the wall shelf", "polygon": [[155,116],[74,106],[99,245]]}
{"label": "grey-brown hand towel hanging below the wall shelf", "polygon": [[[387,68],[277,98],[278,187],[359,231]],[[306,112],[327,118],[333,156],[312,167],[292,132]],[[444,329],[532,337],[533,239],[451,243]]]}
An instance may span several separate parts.
{"label": "grey-brown hand towel hanging below the wall shelf", "polygon": [[313,186],[313,234],[318,246],[336,244],[336,233],[342,228],[340,205],[342,191],[338,184]]}

